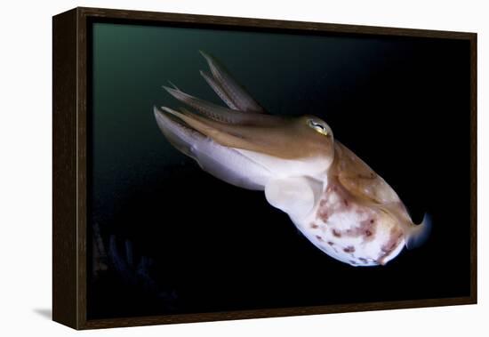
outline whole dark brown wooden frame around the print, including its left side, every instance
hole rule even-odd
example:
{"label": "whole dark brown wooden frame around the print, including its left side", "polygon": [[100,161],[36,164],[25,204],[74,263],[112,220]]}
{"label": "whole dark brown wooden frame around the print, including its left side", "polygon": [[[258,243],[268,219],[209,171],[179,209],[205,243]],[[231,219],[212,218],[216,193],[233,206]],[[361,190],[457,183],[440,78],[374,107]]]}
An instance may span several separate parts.
{"label": "whole dark brown wooden frame around the print, including its left side", "polygon": [[[436,37],[470,44],[470,295],[461,298],[371,302],[283,309],[156,317],[86,318],[87,240],[87,21],[89,19],[179,22],[220,27],[270,28],[341,34]],[[52,18],[52,319],[75,329],[161,325],[215,320],[286,317],[381,309],[477,303],[477,34],[382,28],[319,22],[263,20],[195,14],[77,7]],[[64,85],[60,85],[64,84]],[[60,127],[63,126],[63,127]],[[68,126],[68,127],[67,127]]]}

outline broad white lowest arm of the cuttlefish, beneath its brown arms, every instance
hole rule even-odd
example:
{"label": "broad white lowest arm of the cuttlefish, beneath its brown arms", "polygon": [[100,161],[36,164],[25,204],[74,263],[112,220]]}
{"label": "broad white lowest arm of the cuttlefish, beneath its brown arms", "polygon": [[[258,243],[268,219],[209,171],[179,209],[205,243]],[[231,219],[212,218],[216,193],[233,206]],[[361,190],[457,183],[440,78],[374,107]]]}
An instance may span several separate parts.
{"label": "broad white lowest arm of the cuttlefish, beneath its brown arms", "polygon": [[243,189],[265,188],[265,183],[271,176],[268,169],[235,148],[221,146],[165,110],[172,109],[154,108],[156,123],[161,132],[180,152],[195,159],[205,172]]}

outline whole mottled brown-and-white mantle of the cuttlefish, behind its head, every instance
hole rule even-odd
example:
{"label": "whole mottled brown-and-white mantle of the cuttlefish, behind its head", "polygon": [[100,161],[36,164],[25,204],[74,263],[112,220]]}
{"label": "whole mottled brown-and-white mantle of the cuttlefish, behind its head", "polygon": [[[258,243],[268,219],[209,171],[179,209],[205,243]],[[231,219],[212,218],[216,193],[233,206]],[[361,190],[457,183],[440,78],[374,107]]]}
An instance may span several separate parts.
{"label": "whole mottled brown-and-white mantle of the cuttlefish, behind its head", "polygon": [[[334,259],[352,266],[384,265],[405,245],[402,222],[409,218],[405,206],[392,189],[376,191],[373,196],[372,184],[385,182],[339,142],[335,155],[337,159],[327,174],[327,184],[317,205],[307,217],[293,219],[293,222],[317,248]],[[345,157],[357,162],[356,173],[361,175],[360,180],[367,181],[365,186],[372,189],[372,200],[355,196],[341,184],[346,180],[338,173],[345,173],[341,167]],[[355,184],[362,185],[362,182]],[[351,188],[352,182],[346,185]],[[379,198],[383,204],[379,203]],[[391,207],[386,208],[386,205]]]}

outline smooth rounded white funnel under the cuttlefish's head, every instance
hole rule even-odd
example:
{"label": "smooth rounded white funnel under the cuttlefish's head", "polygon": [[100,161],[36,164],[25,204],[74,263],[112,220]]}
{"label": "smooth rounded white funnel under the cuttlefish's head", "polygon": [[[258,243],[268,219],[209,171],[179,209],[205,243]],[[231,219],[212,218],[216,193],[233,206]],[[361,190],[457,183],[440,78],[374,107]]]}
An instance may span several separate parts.
{"label": "smooth rounded white funnel under the cuttlefish's head", "polygon": [[317,203],[323,189],[320,181],[308,177],[270,180],[265,197],[270,205],[289,214],[293,219],[307,216]]}

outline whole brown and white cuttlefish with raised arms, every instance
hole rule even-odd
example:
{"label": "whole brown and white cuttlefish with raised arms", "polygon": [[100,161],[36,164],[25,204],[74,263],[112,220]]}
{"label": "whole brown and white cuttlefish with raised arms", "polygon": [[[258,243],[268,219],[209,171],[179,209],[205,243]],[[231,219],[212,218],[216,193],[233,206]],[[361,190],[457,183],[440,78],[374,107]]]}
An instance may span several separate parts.
{"label": "whole brown and white cuttlefish with raised arms", "polygon": [[207,173],[263,190],[270,205],[322,252],[352,266],[385,265],[428,237],[397,193],[317,116],[273,116],[220,63],[201,52],[200,75],[227,108],[164,86],[188,108],[154,108],[164,137]]}

